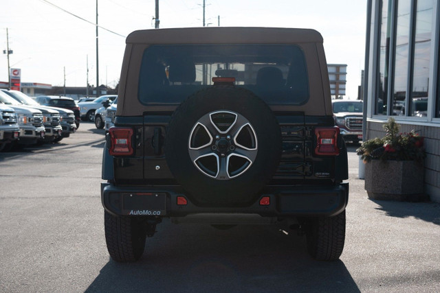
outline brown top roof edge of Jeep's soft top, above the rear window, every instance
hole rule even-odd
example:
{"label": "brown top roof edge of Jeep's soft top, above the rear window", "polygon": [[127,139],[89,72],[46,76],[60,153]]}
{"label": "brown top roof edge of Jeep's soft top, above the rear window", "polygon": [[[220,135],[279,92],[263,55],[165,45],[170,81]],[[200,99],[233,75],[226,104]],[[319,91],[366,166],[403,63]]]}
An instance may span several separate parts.
{"label": "brown top roof edge of Jeep's soft top, above the rear window", "polygon": [[127,44],[298,44],[322,43],[316,30],[280,27],[186,27],[138,30]]}

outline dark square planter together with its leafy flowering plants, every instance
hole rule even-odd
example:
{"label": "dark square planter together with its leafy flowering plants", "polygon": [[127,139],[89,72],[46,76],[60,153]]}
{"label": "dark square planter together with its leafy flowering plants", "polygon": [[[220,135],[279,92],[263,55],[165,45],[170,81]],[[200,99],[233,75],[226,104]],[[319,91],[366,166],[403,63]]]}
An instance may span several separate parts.
{"label": "dark square planter together with its leafy flowering plants", "polygon": [[395,119],[384,124],[383,138],[364,141],[357,153],[366,163],[365,189],[374,200],[424,200],[423,137],[399,132]]}

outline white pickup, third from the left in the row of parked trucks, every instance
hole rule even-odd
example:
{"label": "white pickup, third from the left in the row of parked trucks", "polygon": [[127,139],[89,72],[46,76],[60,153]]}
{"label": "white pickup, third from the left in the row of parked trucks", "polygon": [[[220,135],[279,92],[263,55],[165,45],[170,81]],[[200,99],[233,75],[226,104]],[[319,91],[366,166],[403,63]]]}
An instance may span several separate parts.
{"label": "white pickup, third from the left in the row of parked trucks", "polygon": [[21,93],[21,91],[7,91],[5,89],[2,89],[1,91],[25,106],[41,110],[41,113],[43,113],[45,135],[39,139],[40,143],[58,141],[58,137],[61,137],[63,134],[63,128],[61,128],[61,116],[57,108],[41,106],[39,103],[35,102],[34,99],[28,97],[28,95]]}

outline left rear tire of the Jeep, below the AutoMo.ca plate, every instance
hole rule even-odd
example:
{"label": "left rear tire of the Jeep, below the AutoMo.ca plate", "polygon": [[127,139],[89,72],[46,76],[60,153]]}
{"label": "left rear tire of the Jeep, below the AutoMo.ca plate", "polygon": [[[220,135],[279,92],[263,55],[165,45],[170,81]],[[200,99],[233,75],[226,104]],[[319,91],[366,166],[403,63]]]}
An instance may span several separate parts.
{"label": "left rear tire of the Jeep, below the AutoMo.ca plate", "polygon": [[146,222],[142,218],[115,216],[104,211],[107,250],[114,261],[132,262],[145,249]]}

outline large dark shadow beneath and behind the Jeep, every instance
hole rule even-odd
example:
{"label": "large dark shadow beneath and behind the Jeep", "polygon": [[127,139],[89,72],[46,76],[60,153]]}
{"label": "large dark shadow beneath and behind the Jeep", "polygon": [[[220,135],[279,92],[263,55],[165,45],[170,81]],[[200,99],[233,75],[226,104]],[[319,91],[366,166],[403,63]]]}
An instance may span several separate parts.
{"label": "large dark shadow beneath and behind the Jeep", "polygon": [[342,261],[314,261],[296,232],[157,228],[140,261],[110,259],[86,292],[360,292]]}

